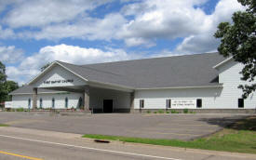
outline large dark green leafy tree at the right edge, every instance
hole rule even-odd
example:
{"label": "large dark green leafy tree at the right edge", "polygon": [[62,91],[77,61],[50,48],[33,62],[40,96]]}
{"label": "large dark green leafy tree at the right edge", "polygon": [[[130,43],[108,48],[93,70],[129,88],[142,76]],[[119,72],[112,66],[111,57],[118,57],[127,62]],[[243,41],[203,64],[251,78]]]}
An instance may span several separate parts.
{"label": "large dark green leafy tree at the right edge", "polygon": [[238,2],[246,10],[235,12],[232,16],[233,23],[220,23],[214,36],[221,39],[218,51],[222,56],[233,56],[234,60],[244,64],[240,72],[241,80],[248,81],[249,85],[240,85],[239,88],[243,90],[242,97],[246,99],[256,90],[253,82],[256,75],[256,1]]}

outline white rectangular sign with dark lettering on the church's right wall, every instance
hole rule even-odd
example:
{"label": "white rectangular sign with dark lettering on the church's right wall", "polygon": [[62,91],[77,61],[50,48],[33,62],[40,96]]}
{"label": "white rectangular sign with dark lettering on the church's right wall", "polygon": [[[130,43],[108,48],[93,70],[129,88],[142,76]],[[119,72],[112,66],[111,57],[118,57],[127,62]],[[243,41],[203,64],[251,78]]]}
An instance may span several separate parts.
{"label": "white rectangular sign with dark lettering on the church's right wall", "polygon": [[171,100],[171,108],[196,108],[196,100]]}

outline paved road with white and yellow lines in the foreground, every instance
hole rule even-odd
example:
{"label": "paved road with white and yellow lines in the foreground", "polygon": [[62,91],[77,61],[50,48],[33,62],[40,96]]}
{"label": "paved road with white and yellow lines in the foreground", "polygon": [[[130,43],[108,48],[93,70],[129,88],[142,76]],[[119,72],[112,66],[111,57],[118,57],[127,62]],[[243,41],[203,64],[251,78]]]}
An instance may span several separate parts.
{"label": "paved road with white and yellow lines in the foreground", "polygon": [[0,127],[1,160],[256,160],[254,155],[144,144],[95,143],[81,135],[18,127]]}

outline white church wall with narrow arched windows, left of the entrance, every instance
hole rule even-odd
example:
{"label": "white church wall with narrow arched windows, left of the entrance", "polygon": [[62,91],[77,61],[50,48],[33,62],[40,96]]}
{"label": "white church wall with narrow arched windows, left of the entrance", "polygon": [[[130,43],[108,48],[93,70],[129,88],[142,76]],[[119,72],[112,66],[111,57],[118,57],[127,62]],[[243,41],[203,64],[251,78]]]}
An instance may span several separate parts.
{"label": "white church wall with narrow arched windows, left of the entrance", "polygon": [[[83,94],[79,93],[60,93],[60,94],[38,94],[37,107],[40,107],[40,99],[43,100],[43,108],[51,108],[52,98],[55,99],[55,109],[65,109],[65,99],[68,98],[68,108],[77,108],[79,98],[83,98]],[[31,99],[31,108],[33,106],[32,95],[13,95],[13,108],[28,108],[28,100]]]}

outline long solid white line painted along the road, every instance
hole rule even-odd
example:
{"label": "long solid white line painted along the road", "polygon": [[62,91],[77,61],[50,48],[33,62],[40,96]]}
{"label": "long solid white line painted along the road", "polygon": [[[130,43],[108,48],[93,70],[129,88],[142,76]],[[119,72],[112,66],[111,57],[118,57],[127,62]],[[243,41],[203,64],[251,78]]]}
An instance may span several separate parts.
{"label": "long solid white line painted along the road", "polygon": [[7,136],[7,135],[0,135],[0,137],[16,139],[16,140],[36,141],[36,142],[41,142],[41,143],[55,144],[55,145],[68,146],[68,147],[74,147],[74,148],[82,148],[82,149],[94,150],[94,151],[100,151],[100,152],[106,152],[106,153],[120,153],[120,154],[143,156],[143,157],[149,157],[149,158],[157,158],[157,159],[182,160],[182,159],[169,158],[169,157],[163,157],[163,156],[155,156],[155,155],[148,155],[148,154],[141,154],[141,153],[126,153],[126,152],[120,152],[120,151],[114,151],[114,150],[104,150],[104,149],[99,149],[99,148],[84,147],[84,146],[79,146],[79,145],[58,143],[58,142],[52,142],[52,141],[25,139],[25,138],[19,138],[19,137]]}

